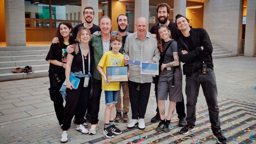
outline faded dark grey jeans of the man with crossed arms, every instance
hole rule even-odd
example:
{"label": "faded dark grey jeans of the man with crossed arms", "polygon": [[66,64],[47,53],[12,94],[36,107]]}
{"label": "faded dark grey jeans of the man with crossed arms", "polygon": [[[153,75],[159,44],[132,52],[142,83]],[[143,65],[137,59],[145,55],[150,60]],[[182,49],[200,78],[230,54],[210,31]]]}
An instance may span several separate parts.
{"label": "faded dark grey jeans of the man with crossed arms", "polygon": [[202,74],[202,70],[186,75],[186,95],[187,95],[187,124],[195,126],[196,122],[196,102],[200,85],[208,106],[211,129],[213,132],[220,130],[219,107],[217,102],[217,84],[214,71],[207,68],[207,74]]}

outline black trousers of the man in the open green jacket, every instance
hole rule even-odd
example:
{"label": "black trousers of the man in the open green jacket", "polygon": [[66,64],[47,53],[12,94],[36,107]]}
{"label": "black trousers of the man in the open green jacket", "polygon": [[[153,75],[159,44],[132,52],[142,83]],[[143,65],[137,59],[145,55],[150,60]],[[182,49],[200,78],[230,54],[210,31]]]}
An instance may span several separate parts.
{"label": "black trousers of the man in the open green jacket", "polygon": [[102,92],[101,79],[97,80],[92,78],[93,94],[90,98],[91,101],[91,124],[98,124],[99,122],[99,111],[100,111],[100,96]]}

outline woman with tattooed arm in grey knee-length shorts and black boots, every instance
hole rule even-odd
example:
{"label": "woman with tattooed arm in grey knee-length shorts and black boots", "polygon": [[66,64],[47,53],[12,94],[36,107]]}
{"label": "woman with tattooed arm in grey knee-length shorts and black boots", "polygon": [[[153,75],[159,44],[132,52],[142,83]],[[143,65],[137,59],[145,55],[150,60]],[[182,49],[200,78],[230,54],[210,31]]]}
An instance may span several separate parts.
{"label": "woman with tattooed arm in grey knee-length shorts and black boots", "polygon": [[[157,92],[158,92],[158,109],[161,121],[156,131],[169,132],[171,130],[170,121],[174,113],[176,102],[182,101],[182,71],[178,57],[177,42],[172,39],[170,29],[162,24],[157,27],[157,44],[162,58],[161,73],[159,76]],[[162,62],[162,63],[161,63]],[[168,116],[165,121],[165,104],[169,94]]]}

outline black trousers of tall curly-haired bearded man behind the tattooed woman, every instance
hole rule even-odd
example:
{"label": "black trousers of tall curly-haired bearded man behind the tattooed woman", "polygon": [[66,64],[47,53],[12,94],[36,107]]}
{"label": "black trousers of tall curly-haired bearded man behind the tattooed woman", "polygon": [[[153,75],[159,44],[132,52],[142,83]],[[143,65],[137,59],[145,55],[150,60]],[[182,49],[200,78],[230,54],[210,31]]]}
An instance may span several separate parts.
{"label": "black trousers of tall curly-haired bearded man behind the tattooed woman", "polygon": [[[159,74],[160,74],[160,73],[159,73]],[[157,113],[156,113],[156,114],[157,114],[158,116],[160,116],[159,110],[158,110],[158,103],[157,103],[157,84],[158,84],[158,81],[159,81],[159,75],[156,75],[156,77],[154,77],[154,82],[155,82],[155,95],[156,95],[156,104],[157,104],[157,108],[156,108],[156,112],[157,112]],[[177,114],[178,114],[178,119],[181,119],[181,118],[186,117],[183,93],[182,93],[182,101],[176,103],[176,112],[177,112]]]}

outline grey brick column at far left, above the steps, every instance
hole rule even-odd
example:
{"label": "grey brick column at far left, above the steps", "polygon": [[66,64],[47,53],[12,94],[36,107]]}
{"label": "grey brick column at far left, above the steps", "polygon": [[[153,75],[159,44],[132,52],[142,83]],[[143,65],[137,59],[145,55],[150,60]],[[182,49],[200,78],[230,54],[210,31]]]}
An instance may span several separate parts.
{"label": "grey brick column at far left, above the steps", "polygon": [[26,46],[24,0],[4,0],[6,46]]}

